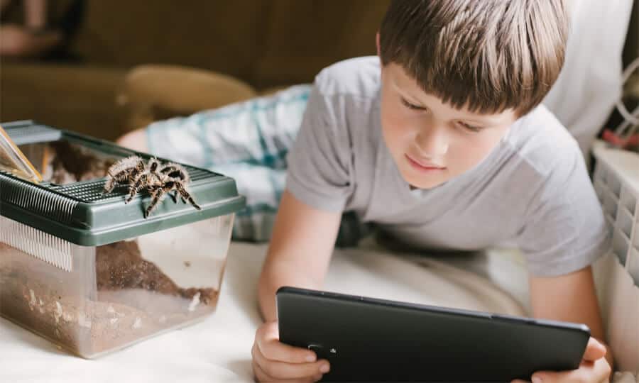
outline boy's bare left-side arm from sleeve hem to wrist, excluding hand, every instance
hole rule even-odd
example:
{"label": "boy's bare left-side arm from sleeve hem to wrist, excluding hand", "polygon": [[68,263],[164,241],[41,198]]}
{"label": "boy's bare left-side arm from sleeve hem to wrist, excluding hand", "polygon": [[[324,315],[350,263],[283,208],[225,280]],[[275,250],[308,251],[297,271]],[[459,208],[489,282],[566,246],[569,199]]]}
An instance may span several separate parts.
{"label": "boy's bare left-side arm from sleeve hem to wrist, excluding hand", "polygon": [[275,292],[280,287],[322,286],[341,218],[341,213],[314,209],[284,192],[258,282],[265,321],[277,317]]}

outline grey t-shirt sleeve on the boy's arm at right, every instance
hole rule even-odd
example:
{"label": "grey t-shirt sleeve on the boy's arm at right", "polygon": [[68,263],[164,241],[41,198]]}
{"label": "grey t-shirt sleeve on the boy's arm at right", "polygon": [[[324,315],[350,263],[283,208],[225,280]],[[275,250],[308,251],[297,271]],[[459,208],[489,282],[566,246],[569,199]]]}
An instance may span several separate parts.
{"label": "grey t-shirt sleeve on the boy's arm at right", "polygon": [[610,249],[603,210],[579,152],[557,163],[538,187],[518,245],[529,272],[540,277],[575,272]]}

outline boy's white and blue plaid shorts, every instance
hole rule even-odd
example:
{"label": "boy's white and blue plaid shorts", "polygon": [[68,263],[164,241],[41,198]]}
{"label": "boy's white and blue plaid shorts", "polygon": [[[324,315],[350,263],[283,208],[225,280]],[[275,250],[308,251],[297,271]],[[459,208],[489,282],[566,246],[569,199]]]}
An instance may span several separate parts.
{"label": "boy's white and blue plaid shorts", "polygon": [[[233,177],[246,208],[236,214],[234,240],[266,242],[285,189],[286,156],[300,129],[311,85],[152,123],[148,152]],[[337,244],[356,245],[368,226],[344,213]]]}

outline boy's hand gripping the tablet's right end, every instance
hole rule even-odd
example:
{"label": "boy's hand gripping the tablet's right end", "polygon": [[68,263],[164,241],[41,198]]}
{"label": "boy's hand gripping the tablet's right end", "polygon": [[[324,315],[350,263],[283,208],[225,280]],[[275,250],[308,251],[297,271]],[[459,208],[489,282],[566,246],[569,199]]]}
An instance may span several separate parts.
{"label": "boy's hand gripping the tablet's right end", "polygon": [[[577,370],[572,371],[539,371],[532,374],[532,383],[559,383],[559,382],[609,382],[612,368],[606,360],[606,346],[595,338],[590,338],[584,358]],[[511,383],[520,383],[522,380],[513,380]]]}

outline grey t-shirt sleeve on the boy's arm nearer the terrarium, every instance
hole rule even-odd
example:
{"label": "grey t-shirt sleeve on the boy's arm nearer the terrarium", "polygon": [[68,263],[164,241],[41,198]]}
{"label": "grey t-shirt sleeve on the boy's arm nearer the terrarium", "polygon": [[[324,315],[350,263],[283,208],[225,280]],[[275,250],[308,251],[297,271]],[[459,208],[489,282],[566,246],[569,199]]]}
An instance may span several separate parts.
{"label": "grey t-shirt sleeve on the boy's arm nearer the terrarium", "polygon": [[[317,82],[317,79],[316,79]],[[314,86],[287,162],[286,187],[295,198],[324,211],[343,211],[351,195],[351,143],[338,96]]]}

